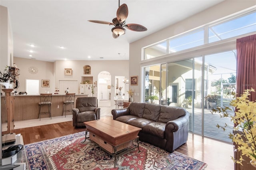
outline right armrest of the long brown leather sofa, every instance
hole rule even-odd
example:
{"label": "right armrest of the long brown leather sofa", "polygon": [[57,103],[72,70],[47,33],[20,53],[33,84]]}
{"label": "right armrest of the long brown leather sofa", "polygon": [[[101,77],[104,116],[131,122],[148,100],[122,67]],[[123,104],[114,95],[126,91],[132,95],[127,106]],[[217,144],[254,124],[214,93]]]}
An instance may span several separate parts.
{"label": "right armrest of the long brown leather sofa", "polygon": [[175,119],[173,121],[169,121],[166,123],[165,129],[166,133],[168,132],[177,132],[182,127],[185,127],[188,125],[190,114],[186,112],[186,115],[179,117],[178,119]]}

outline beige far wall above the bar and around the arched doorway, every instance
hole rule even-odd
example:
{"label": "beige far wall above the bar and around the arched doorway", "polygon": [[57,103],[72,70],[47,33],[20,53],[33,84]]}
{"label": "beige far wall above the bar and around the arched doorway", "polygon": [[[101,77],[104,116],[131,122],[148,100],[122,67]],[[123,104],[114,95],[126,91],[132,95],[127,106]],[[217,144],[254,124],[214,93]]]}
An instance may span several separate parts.
{"label": "beige far wall above the bar and around the arched doorway", "polygon": [[[119,61],[55,61],[47,62],[47,61],[38,61],[34,59],[24,59],[19,57],[14,57],[14,63],[20,69],[19,82],[20,87],[18,88],[18,93],[20,91],[26,91],[25,81],[26,79],[37,79],[40,83],[42,83],[42,79],[50,80],[50,88],[42,87],[40,84],[39,93],[44,93],[45,91],[49,91],[50,93],[54,93],[55,88],[58,88],[58,82],[60,80],[77,80],[78,83],[81,83],[81,77],[89,76],[93,77],[93,82],[98,82],[98,74],[101,71],[108,71],[111,74],[111,85],[115,85],[115,76],[125,76],[128,77],[128,60],[119,60]],[[91,74],[84,75],[83,67],[84,65],[91,66]],[[37,74],[29,73],[29,67],[38,68]],[[71,68],[72,75],[64,75],[64,69]],[[97,86],[98,87],[98,86]],[[126,87],[126,86],[125,86]],[[128,86],[126,87],[125,92],[128,90]],[[114,94],[115,88],[111,87],[111,102],[114,104]],[[95,88],[94,96],[98,95],[98,89]]]}

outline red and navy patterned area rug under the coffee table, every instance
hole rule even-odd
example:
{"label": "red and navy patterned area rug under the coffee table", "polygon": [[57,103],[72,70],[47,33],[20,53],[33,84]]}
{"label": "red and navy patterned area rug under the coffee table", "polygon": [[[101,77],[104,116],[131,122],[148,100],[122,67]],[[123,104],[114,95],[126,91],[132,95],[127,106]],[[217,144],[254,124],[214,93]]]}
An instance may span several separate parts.
{"label": "red and navy patterned area rug under the coffee table", "polygon": [[204,170],[204,162],[179,152],[166,152],[145,142],[117,158],[104,152],[90,140],[82,143],[85,132],[79,132],[25,145],[22,161],[28,170]]}

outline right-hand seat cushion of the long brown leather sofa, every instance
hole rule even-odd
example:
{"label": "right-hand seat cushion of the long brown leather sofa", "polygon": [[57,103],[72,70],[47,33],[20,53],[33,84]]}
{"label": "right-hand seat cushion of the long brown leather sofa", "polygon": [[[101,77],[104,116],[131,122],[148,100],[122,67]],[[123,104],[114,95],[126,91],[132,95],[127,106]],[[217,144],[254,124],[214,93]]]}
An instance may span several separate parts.
{"label": "right-hand seat cushion of the long brown leather sofa", "polygon": [[158,136],[159,138],[164,139],[165,138],[165,125],[166,123],[162,122],[152,122],[147,125],[145,125],[142,128],[142,132],[147,134],[152,134],[154,136]]}

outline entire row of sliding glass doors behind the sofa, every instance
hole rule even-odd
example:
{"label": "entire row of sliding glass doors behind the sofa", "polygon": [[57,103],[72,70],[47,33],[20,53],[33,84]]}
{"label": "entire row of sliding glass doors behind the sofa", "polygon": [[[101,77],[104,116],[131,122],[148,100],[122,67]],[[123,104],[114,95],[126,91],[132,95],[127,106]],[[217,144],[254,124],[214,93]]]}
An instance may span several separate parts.
{"label": "entire row of sliding glass doors behind the sofa", "polygon": [[[232,96],[228,92],[236,89],[235,57],[236,51],[226,51],[145,67],[145,102],[184,107],[190,113],[191,132],[231,142],[232,129],[216,127],[232,126],[230,119],[210,111],[229,106]],[[205,99],[211,95],[215,105]]]}

